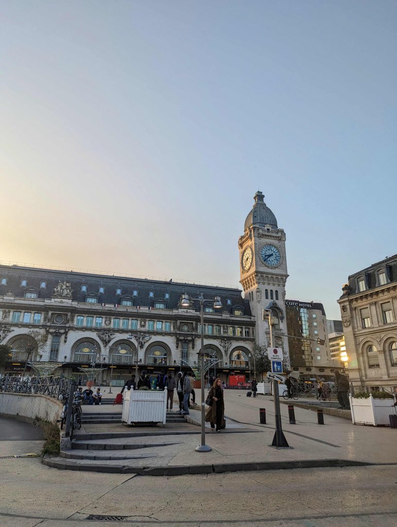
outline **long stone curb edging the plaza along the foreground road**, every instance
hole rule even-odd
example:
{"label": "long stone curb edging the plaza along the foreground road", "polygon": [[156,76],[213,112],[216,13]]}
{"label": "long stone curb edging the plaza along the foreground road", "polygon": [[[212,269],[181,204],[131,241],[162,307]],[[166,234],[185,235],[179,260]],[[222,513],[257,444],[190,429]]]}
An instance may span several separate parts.
{"label": "long stone curb edging the plaza along the foreground road", "polygon": [[188,474],[222,474],[225,472],[257,472],[266,470],[319,469],[324,467],[367,466],[376,463],[342,459],[302,460],[302,461],[269,461],[259,463],[224,463],[217,465],[187,465],[187,466],[123,466],[81,465],[71,461],[44,458],[43,463],[60,470],[81,472],[105,472],[118,474],[137,474],[139,476],[182,476]]}

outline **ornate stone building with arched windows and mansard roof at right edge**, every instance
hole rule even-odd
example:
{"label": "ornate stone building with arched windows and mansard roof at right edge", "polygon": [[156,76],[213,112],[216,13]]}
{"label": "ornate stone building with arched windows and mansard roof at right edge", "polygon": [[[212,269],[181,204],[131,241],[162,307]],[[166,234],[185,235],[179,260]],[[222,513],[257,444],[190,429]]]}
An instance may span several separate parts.
{"label": "ornate stone building with arched windows and mansard roof at right edge", "polygon": [[338,299],[353,385],[397,387],[397,255],[348,277]]}

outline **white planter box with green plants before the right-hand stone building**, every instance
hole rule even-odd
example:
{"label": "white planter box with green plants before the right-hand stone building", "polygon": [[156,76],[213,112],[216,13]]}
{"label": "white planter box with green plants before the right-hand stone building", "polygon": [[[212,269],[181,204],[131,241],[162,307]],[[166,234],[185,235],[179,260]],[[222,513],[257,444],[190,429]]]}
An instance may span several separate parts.
{"label": "white planter box with green plants before the right-hand stone building", "polygon": [[354,424],[390,425],[389,415],[392,413],[393,399],[356,399],[349,396],[352,421]]}

